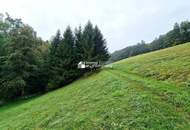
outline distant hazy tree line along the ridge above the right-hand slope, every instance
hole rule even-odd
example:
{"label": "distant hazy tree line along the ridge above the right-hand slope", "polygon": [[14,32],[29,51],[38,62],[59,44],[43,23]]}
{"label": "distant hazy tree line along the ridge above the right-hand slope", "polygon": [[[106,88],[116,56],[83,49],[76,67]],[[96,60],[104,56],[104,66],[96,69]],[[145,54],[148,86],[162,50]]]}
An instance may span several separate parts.
{"label": "distant hazy tree line along the ridge above the right-hand slope", "polygon": [[146,52],[172,47],[189,41],[190,22],[183,21],[181,22],[181,24],[175,23],[172,30],[164,35],[160,35],[158,38],[155,38],[155,40],[153,40],[151,43],[145,43],[144,41],[141,41],[136,45],[126,47],[119,51],[115,51],[111,54],[108,63],[143,54]]}

